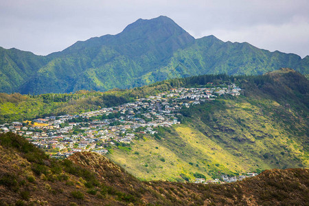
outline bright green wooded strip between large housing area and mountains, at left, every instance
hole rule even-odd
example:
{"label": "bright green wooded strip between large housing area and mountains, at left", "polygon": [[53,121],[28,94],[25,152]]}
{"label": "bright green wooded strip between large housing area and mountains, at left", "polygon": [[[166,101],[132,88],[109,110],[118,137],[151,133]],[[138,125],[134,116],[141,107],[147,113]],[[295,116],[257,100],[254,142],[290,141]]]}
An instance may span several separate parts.
{"label": "bright green wooded strip between large housing area and mountains, at left", "polygon": [[[47,115],[79,114],[117,106],[126,102],[168,91],[169,82],[160,82],[135,89],[113,89],[107,92],[77,91],[76,93],[21,95],[0,93],[0,123],[34,119]],[[78,119],[76,119],[78,121]]]}

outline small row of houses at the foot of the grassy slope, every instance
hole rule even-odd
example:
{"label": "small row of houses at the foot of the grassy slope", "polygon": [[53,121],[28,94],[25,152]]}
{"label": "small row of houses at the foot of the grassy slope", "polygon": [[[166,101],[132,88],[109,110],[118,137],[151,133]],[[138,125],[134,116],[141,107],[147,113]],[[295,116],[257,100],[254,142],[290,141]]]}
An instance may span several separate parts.
{"label": "small row of houses at the foot of the grassy slope", "polygon": [[233,183],[236,181],[242,181],[245,178],[252,177],[252,176],[257,176],[258,173],[255,172],[249,172],[245,175],[240,175],[240,176],[227,176],[227,175],[221,175],[221,180],[220,179],[214,179],[214,180],[208,180],[205,181],[203,178],[196,178],[194,180],[194,183],[204,183],[204,184],[224,184],[224,183]]}

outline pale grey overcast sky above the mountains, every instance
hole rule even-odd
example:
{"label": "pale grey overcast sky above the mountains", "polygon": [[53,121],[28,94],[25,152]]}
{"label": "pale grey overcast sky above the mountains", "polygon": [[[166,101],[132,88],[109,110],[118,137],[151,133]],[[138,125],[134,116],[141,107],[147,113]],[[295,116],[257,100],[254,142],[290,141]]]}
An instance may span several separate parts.
{"label": "pale grey overcast sky above the mountains", "polygon": [[160,15],[195,38],[309,55],[308,0],[0,0],[0,46],[47,55]]}

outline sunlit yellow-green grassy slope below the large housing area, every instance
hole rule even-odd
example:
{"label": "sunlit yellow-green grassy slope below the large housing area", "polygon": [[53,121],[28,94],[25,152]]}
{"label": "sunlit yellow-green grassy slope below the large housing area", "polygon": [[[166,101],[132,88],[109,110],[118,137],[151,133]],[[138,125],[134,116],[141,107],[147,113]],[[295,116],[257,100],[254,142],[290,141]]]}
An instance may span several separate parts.
{"label": "sunlit yellow-green grassy slope below the large housing area", "polygon": [[[271,168],[308,167],[304,140],[308,126],[304,120],[295,122],[295,128],[291,129],[279,118],[262,115],[261,107],[245,100],[222,101],[226,102],[226,108],[222,110],[212,105],[215,111],[211,119],[204,119],[207,111],[201,106],[196,108],[200,113],[194,113],[186,124],[164,130],[161,140],[155,137],[137,140],[131,152],[115,149],[108,157],[133,175],[147,180],[175,181],[181,179],[180,174],[194,179],[194,172],[210,179],[217,178],[218,171],[241,174]],[[273,111],[279,106],[277,102],[267,102],[267,105]],[[212,122],[214,118],[216,122]],[[160,161],[161,157],[165,162]]]}

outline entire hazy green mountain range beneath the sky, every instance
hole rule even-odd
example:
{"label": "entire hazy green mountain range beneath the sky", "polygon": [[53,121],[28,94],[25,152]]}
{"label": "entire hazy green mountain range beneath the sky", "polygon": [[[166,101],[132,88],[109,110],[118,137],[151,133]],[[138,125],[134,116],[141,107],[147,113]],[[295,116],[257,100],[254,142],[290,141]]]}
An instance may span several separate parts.
{"label": "entire hazy green mountain range beneath the sky", "polygon": [[207,73],[257,75],[279,67],[308,74],[308,60],[214,36],[194,39],[172,19],[159,16],[48,56],[0,48],[0,92],[106,91]]}

